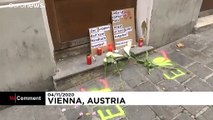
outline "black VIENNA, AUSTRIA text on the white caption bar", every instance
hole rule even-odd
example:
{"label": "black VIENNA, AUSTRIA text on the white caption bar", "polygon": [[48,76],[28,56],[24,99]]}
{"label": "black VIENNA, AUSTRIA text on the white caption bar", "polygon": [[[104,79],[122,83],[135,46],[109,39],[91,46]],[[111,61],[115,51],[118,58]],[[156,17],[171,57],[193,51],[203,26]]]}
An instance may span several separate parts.
{"label": "black VIENNA, AUSTRIA text on the white caption bar", "polygon": [[[50,104],[81,104],[84,105],[84,102],[79,97],[66,97],[66,98],[48,98]],[[87,104],[126,104],[124,98],[115,98],[115,97],[97,97],[97,98],[89,98]]]}

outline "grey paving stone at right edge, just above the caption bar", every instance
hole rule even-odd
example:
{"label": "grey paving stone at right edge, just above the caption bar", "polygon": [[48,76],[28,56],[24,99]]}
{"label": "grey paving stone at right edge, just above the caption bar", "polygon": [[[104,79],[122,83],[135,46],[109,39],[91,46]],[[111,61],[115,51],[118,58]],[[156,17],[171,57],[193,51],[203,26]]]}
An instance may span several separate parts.
{"label": "grey paving stone at right edge, just above the caption bar", "polygon": [[213,87],[203,82],[198,77],[191,79],[189,82],[185,84],[185,86],[192,91],[213,91]]}

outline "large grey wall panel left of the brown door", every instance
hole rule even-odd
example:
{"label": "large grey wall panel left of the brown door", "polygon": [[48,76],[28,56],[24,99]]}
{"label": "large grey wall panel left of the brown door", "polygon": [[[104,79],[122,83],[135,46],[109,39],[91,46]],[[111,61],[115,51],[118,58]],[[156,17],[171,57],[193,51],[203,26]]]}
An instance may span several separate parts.
{"label": "large grey wall panel left of the brown door", "polygon": [[40,8],[0,8],[0,90],[53,89],[53,47]]}

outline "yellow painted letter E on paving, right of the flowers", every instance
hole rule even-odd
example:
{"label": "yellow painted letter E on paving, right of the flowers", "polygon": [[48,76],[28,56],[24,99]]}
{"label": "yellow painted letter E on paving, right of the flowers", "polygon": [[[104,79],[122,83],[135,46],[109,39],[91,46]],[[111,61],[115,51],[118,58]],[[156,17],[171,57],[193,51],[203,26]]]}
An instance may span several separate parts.
{"label": "yellow painted letter E on paving, right of the flowers", "polygon": [[170,71],[170,72],[171,72],[171,74],[172,74],[173,76],[169,76],[169,75],[167,75],[166,73],[163,73],[163,75],[164,75],[168,80],[174,80],[174,79],[176,79],[176,78],[178,78],[178,77],[183,76],[183,75],[186,74],[186,73],[184,73],[183,71],[181,71],[180,69],[176,69],[176,71],[172,70],[172,71]]}

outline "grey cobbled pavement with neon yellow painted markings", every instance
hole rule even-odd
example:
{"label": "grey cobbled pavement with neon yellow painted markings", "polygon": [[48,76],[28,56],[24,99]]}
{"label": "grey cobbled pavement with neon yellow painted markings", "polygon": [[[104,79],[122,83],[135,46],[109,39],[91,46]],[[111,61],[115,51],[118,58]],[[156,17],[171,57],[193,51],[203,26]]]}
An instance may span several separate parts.
{"label": "grey cobbled pavement with neon yellow painted markings", "polygon": [[[178,43],[184,47],[178,48]],[[105,80],[108,88],[112,91],[213,91],[213,29],[156,49],[149,57],[155,64],[178,70],[154,69],[148,74],[143,66],[126,61],[121,78],[108,75]],[[96,78],[68,91],[104,89],[106,86],[99,80]],[[213,120],[213,106],[12,106],[0,111],[0,120]]]}

